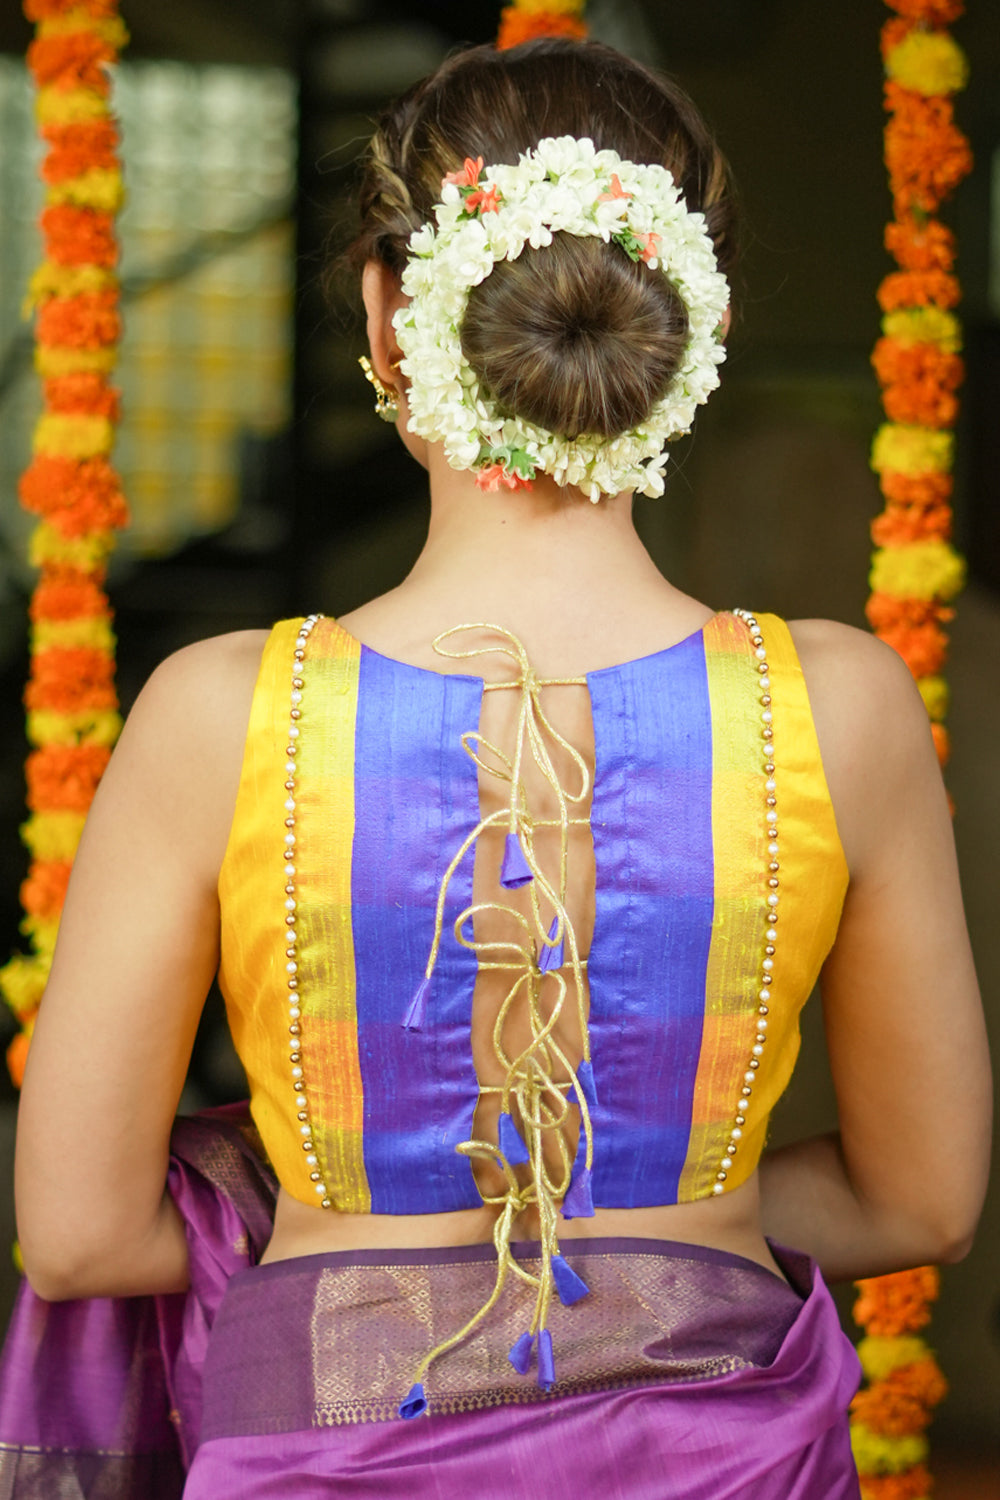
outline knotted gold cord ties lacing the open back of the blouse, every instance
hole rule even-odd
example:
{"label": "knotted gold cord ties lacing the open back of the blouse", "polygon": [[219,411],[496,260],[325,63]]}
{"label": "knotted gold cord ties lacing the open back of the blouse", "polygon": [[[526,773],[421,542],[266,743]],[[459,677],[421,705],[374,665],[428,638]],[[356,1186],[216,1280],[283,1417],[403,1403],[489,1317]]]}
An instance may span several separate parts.
{"label": "knotted gold cord ties lacing the open back of the blouse", "polygon": [[[499,642],[466,648],[445,645],[451,638],[465,632],[489,632],[498,636]],[[478,969],[507,969],[513,975],[513,982],[499,1005],[492,1030],[493,1056],[502,1070],[504,1083],[484,1084],[480,1088],[480,1095],[499,1094],[501,1120],[507,1116],[514,1131],[517,1131],[517,1126],[514,1124],[513,1104],[517,1106],[517,1116],[520,1119],[519,1136],[525,1158],[510,1161],[499,1140],[493,1143],[472,1138],[462,1142],[456,1148],[466,1158],[495,1162],[504,1174],[505,1188],[502,1192],[483,1194],[484,1204],[499,1210],[493,1227],[493,1244],[498,1257],[496,1280],[490,1296],[474,1317],[454,1335],[432,1348],[420,1362],[414,1389],[400,1407],[400,1413],[406,1416],[418,1414],[418,1412],[426,1408],[423,1386],[420,1384],[423,1376],[435,1359],[460,1344],[487,1317],[511,1274],[535,1290],[535,1305],[528,1326],[528,1336],[532,1346],[535,1336],[538,1336],[541,1350],[541,1334],[546,1330],[552,1294],[556,1288],[553,1258],[559,1254],[558,1206],[570,1190],[574,1161],[580,1160],[582,1155],[582,1166],[588,1174],[594,1162],[591,1108],[577,1071],[583,1062],[589,1068],[591,1060],[586,993],[583,986],[586,960],[580,958],[576,930],[565,904],[570,828],[589,826],[589,818],[571,816],[571,808],[586,802],[591,792],[591,771],[580,752],[559,734],[541,706],[541,690],[544,687],[586,687],[586,678],[538,676],[520,640],[502,626],[454,626],[451,630],[445,630],[436,636],[433,646],[439,656],[451,660],[474,660],[495,654],[508,657],[516,668],[516,676],[510,681],[484,682],[483,690],[484,693],[517,692],[520,693],[520,702],[517,705],[513,754],[507,754],[499,746],[492,744],[478,729],[469,729],[462,735],[462,748],[469,759],[484,774],[510,783],[510,796],[505,807],[487,813],[478,820],[475,828],[462,840],[442,876],[435,912],[433,940],[424,969],[424,982],[420,987],[418,1000],[411,1006],[406,1024],[418,1028],[423,1020],[421,1006],[441,950],[444,909],[451,879],[480,836],[489,828],[502,828],[505,825],[507,837],[513,836],[517,840],[531,876],[529,880],[525,880],[525,884],[529,884],[526,896],[531,918],[504,902],[474,902],[463,908],[454,918],[453,932],[456,942],[477,956]],[[562,784],[550,747],[558,747],[564,752],[579,772],[576,789],[568,789]],[[523,784],[523,768],[528,758],[531,758],[552,789],[558,818],[532,818]],[[559,868],[555,884],[541,868],[535,854],[534,832],[537,828],[559,830]],[[547,926],[543,920],[543,903],[553,914]],[[474,936],[475,921],[490,912],[499,914],[508,921],[513,920],[519,928],[517,936],[477,939]],[[472,936],[466,936],[463,930],[469,922],[472,924]],[[540,956],[544,956],[546,950],[558,950],[559,945],[562,945],[564,956],[561,968],[570,969],[571,984],[567,982],[567,976],[561,972],[561,968],[541,968],[544,958],[540,960]],[[550,992],[553,993],[553,1002],[549,1006],[547,1016],[541,1005],[541,990],[546,981],[549,981]],[[583,1052],[582,1064],[576,1066],[570,1062],[555,1036],[570,996],[570,988],[573,988],[576,1000]],[[505,1046],[504,1034],[519,999],[525,1002],[523,1010],[531,1040],[517,1054],[511,1056]],[[556,1078],[556,1072],[561,1072],[562,1078]],[[571,1122],[570,1092],[580,1113],[582,1152],[580,1144],[577,1144],[576,1152],[571,1152],[567,1138],[567,1126]],[[555,1168],[550,1168],[546,1162],[547,1140],[552,1140],[556,1148],[558,1164]],[[511,1149],[510,1142],[508,1149]],[[528,1182],[519,1180],[516,1173],[517,1166],[523,1166],[528,1170]],[[541,1269],[538,1275],[520,1266],[510,1248],[514,1224],[528,1209],[534,1209],[538,1214],[541,1244]],[[564,1266],[562,1269],[568,1272],[568,1268]],[[580,1290],[574,1290],[574,1298],[583,1293],[585,1288],[580,1287]],[[540,1354],[540,1380],[543,1372]]]}

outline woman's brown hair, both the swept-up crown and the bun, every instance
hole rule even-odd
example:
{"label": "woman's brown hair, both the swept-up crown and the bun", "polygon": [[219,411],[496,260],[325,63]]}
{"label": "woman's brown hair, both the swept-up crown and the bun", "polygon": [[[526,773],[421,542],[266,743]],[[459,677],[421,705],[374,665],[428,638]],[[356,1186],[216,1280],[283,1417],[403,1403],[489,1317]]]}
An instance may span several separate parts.
{"label": "woman's brown hair, both the swept-up crown and the bun", "polygon": [[[459,52],[387,110],[364,165],[352,262],[400,273],[445,172],[466,156],[513,164],[550,135],[589,136],[598,150],[667,166],[688,208],[705,214],[720,268],[732,270],[729,168],[691,100],[600,42],[559,39]],[[663,396],[687,333],[666,276],[616,244],[556,234],[498,262],[472,290],[462,350],[501,410],[564,436],[610,438]]]}

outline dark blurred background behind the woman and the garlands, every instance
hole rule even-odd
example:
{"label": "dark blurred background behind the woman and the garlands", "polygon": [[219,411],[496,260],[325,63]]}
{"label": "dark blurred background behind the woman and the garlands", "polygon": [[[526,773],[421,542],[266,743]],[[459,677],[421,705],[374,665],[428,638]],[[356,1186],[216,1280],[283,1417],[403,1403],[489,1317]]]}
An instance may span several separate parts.
{"label": "dark blurred background behind the woman and the garlands", "polygon": [[[351,226],[357,156],[382,100],[459,44],[492,40],[484,0],[123,0],[120,69],[129,206],[121,219],[126,420],[115,462],[135,524],[111,574],[124,706],[192,639],[312,609],[342,614],[393,586],[421,543],[423,471],[372,414],[363,330],[345,279],[324,270]],[[654,556],[715,608],[864,624],[867,454],[880,420],[868,352],[889,270],[882,228],[876,0],[591,0],[592,33],[679,76],[742,189],[747,244],[721,392],[678,452],[663,501],[640,501]],[[969,381],[960,430],[958,602],[949,676],[949,784],[973,942],[997,1026],[1000,922],[1000,24],[979,0],[957,30],[972,63],[958,120],[976,170],[948,210],[960,236]],[[19,304],[39,260],[37,146],[24,70],[30,27],[0,12],[0,956],[18,946],[25,856],[27,670],[16,507],[37,411]],[[850,704],[844,704],[850,712]],[[942,1024],[948,976],[942,975]],[[6,1017],[0,1024],[6,1024]],[[12,1023],[9,1030],[12,1032]],[[6,1089],[6,1094],[3,1092]],[[213,998],[184,1106],[243,1083]],[[0,1083],[9,1158],[15,1095]],[[828,1128],[819,1006],[775,1138]],[[9,1178],[6,1166],[0,1167]],[[0,1256],[12,1238],[0,1202]],[[942,1500],[1000,1480],[1000,1208],[945,1274],[933,1341],[952,1383],[934,1428]],[[13,1294],[0,1275],[0,1316]],[[843,1306],[850,1294],[841,1296]],[[963,1474],[966,1476],[963,1480]],[[963,1484],[966,1488],[963,1488]]]}

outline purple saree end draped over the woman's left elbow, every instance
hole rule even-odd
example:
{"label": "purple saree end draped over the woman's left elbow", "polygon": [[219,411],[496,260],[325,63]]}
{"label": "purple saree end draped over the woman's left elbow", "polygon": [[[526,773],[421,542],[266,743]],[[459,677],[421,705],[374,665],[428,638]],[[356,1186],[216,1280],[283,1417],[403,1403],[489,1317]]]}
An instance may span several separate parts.
{"label": "purple saree end draped over the woman's left elbow", "polygon": [[216,1311],[274,1221],[246,1106],[175,1122],[168,1186],[189,1292],[45,1302],[21,1282],[0,1359],[0,1500],[180,1500]]}

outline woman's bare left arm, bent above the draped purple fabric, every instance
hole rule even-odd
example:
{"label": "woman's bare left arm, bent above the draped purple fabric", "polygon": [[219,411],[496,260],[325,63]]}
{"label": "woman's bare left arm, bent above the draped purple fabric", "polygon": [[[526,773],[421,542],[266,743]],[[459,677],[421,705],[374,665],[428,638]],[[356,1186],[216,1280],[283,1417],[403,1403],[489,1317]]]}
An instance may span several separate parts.
{"label": "woman's bare left arm, bent above the draped purple fabric", "polygon": [[18,1116],[18,1233],[49,1299],[187,1284],[168,1140],[264,639],[205,640],[153,674],[87,819]]}

